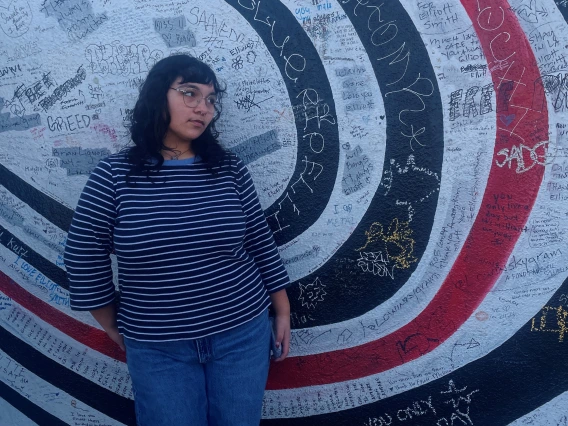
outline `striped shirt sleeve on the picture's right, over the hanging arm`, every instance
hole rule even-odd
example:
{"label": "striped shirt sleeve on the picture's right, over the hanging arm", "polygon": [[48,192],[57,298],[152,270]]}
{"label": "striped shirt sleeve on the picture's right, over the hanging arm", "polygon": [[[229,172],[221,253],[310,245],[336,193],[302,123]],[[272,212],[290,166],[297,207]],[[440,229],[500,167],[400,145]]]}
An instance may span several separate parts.
{"label": "striped shirt sleeve on the picture's right, over the hanging arm", "polygon": [[237,190],[246,216],[244,248],[253,257],[269,294],[290,286],[272,231],[266,222],[254,183],[244,163],[237,159]]}

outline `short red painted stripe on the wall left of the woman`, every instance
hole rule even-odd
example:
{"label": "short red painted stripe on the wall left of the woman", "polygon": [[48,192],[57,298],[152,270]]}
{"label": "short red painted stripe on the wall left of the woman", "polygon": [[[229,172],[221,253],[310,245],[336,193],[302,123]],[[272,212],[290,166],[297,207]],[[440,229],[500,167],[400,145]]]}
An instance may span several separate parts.
{"label": "short red painted stripe on the wall left of the woman", "polygon": [[55,309],[0,272],[0,291],[72,339],[104,355],[126,362],[126,355],[107,334]]}

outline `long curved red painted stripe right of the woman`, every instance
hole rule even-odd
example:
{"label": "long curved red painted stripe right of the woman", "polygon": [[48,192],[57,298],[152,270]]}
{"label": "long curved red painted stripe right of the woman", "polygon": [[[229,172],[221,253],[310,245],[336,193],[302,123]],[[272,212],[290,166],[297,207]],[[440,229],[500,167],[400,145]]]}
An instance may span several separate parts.
{"label": "long curved red painted stripe right of the woman", "polygon": [[[515,84],[518,87],[511,104],[530,108],[534,82],[540,74],[530,44],[507,2],[463,0],[462,4],[474,24],[489,66],[493,68],[491,76],[494,87],[499,86],[501,77],[518,80],[522,76],[522,83],[526,86]],[[491,8],[484,9],[490,5]],[[478,15],[485,29],[478,23]],[[502,17],[501,26],[495,28]],[[495,67],[499,65],[495,59],[507,58],[513,52],[508,63],[500,64],[506,65],[504,69]],[[507,70],[509,65],[511,67]],[[497,104],[500,105],[510,95],[496,90]],[[513,161],[510,168],[507,165],[501,168],[495,163],[495,160],[503,162],[504,156],[498,153],[504,148],[510,151],[513,145],[519,147],[521,143],[532,148],[538,142],[548,140],[546,104],[541,112],[528,111],[526,115],[525,112],[509,106],[507,112],[497,113],[494,161],[481,209],[448,277],[426,309],[406,326],[376,341],[275,363],[270,371],[268,389],[323,385],[389,370],[431,352],[473,314],[501,273],[495,265],[505,265],[522,232],[511,230],[510,225],[516,229],[525,226],[542,182],[542,166],[536,165],[517,174],[515,169],[518,161]],[[509,120],[512,122],[506,125]],[[508,130],[513,128],[524,142],[518,136],[509,134]],[[525,152],[526,167],[530,165],[527,160],[529,155]],[[499,201],[496,202],[495,197]],[[526,206],[526,209],[518,208],[517,204]],[[497,240],[502,241],[497,244]]]}

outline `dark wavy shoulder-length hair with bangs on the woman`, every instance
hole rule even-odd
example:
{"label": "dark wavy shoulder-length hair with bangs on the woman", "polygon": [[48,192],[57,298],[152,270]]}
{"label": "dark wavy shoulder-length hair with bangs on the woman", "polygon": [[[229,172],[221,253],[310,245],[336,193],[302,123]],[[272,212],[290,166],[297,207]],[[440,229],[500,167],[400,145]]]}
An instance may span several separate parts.
{"label": "dark wavy shoulder-length hair with bangs on the woman", "polygon": [[[129,175],[159,171],[164,163],[160,154],[164,138],[170,125],[167,93],[172,83],[178,78],[182,83],[213,84],[217,99],[225,93],[215,73],[209,65],[187,54],[172,55],[164,58],[152,67],[146,80],[140,87],[140,94],[130,117],[130,136],[134,146],[126,148],[126,154],[132,168]],[[208,168],[220,164],[226,151],[219,145],[219,132],[215,123],[221,116],[220,102],[215,106],[215,116],[205,131],[191,142],[191,148],[201,157]]]}

